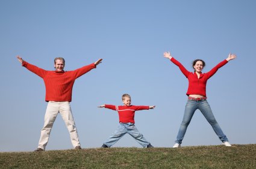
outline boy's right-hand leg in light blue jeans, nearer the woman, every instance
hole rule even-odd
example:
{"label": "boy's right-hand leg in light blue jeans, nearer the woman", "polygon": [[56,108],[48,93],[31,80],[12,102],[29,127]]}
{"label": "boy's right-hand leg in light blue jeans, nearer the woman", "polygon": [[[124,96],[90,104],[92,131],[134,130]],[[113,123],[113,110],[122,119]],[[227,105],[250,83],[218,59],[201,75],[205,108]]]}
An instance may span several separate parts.
{"label": "boy's right-hand leg in light blue jeans, nearer the woman", "polygon": [[126,123],[126,128],[128,134],[130,134],[135,140],[142,145],[142,147],[147,147],[150,143],[146,140],[145,137],[139,132],[134,123]]}

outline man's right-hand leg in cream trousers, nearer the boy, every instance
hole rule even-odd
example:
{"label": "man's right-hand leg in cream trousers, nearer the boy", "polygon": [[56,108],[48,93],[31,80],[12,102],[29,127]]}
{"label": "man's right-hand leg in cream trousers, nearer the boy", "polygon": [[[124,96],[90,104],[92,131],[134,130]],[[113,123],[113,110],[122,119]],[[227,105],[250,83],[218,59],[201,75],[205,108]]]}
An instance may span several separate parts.
{"label": "man's right-hand leg in cream trousers, nearer the boy", "polygon": [[68,101],[60,102],[60,114],[67,126],[67,130],[69,131],[70,140],[73,147],[81,146],[75,121],[73,120],[72,110]]}

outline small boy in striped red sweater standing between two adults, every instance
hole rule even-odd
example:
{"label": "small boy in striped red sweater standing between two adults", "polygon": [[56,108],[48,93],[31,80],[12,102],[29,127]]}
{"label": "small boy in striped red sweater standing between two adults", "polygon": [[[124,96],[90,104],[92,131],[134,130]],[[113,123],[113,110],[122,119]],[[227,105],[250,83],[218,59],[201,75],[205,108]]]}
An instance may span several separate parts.
{"label": "small boy in striped red sweater standing between two adults", "polygon": [[101,146],[103,148],[108,148],[113,146],[120,138],[123,137],[126,133],[130,134],[136,141],[142,145],[143,147],[153,147],[145,137],[138,131],[136,126],[134,125],[134,114],[137,110],[148,110],[154,109],[155,105],[152,106],[144,106],[144,105],[131,105],[131,96],[128,94],[124,94],[122,96],[122,101],[124,105],[99,105],[98,107],[110,108],[112,110],[118,111],[119,114],[119,126],[114,131],[112,135],[104,142]]}

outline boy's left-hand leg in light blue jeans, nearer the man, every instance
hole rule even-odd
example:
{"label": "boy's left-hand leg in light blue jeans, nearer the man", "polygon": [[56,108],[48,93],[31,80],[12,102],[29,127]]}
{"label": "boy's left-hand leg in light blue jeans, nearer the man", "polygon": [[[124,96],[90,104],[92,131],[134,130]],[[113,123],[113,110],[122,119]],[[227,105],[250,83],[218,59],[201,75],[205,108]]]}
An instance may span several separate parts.
{"label": "boy's left-hand leg in light blue jeans, nearer the man", "polygon": [[125,135],[127,133],[127,130],[124,126],[124,123],[120,123],[116,129],[116,131],[114,131],[113,134],[110,135],[110,137],[108,137],[108,139],[106,141],[104,141],[103,144],[105,144],[108,147],[113,146],[114,143],[116,143],[120,138],[123,137],[123,135]]}

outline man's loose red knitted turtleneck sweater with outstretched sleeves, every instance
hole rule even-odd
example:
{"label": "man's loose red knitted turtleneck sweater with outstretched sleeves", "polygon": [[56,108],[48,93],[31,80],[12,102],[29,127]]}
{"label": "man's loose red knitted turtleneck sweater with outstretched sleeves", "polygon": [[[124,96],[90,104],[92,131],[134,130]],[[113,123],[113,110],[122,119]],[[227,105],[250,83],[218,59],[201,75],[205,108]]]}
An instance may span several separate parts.
{"label": "man's loose red knitted turtleneck sweater with outstretched sleeves", "polygon": [[45,101],[71,101],[75,79],[96,68],[95,64],[73,71],[46,71],[23,61],[22,66],[42,77],[45,82]]}

